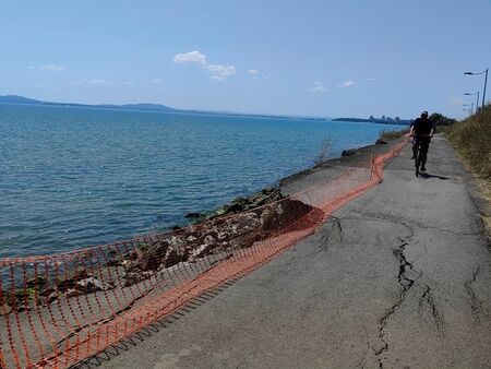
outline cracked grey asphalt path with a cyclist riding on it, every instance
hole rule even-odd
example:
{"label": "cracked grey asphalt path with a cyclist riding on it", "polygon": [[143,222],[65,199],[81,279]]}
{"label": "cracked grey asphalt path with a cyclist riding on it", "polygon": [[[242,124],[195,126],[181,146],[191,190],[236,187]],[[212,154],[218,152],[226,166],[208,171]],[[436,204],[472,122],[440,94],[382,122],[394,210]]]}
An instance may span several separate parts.
{"label": "cracked grey asphalt path with a cyclist riding on it", "polygon": [[443,138],[428,177],[416,178],[410,154],[313,236],[91,362],[491,368],[491,253],[468,176]]}

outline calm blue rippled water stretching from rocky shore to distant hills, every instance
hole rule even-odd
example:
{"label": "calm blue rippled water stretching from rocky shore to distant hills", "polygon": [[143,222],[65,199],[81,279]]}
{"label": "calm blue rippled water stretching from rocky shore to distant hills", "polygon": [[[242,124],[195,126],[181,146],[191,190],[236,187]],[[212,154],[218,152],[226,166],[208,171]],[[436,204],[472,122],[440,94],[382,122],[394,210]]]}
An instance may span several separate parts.
{"label": "calm blue rippled water stretching from rocky shore to distant hills", "polygon": [[394,126],[0,104],[0,258],[184,223]]}

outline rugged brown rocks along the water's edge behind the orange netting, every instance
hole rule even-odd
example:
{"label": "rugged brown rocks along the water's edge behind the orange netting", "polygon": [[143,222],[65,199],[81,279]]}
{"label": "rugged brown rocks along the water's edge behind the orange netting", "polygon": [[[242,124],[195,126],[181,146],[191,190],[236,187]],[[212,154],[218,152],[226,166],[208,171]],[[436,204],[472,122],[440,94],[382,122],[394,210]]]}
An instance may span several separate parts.
{"label": "rugged brown rocks along the water's edge behind the orange netting", "polygon": [[[288,176],[278,184],[249,197],[239,197],[209,213],[189,213],[185,217],[192,219],[191,225],[176,226],[164,234],[135,238],[136,242],[133,245],[137,245],[122,253],[108,249],[104,254],[104,269],[109,275],[117,274],[117,281],[107,281],[100,271],[91,270],[86,261],[75,258],[64,265],[67,270],[71,269],[71,273],[64,276],[39,275],[28,278],[26,286],[13,294],[3,291],[3,298],[0,300],[3,309],[0,316],[12,310],[25,311],[49,306],[61,298],[128,288],[177,264],[191,265],[206,258],[218,258],[233,250],[249,248],[254,242],[284,231],[299,218],[308,214],[316,216],[319,214],[315,213],[321,212],[288,198],[289,194],[296,193],[291,192],[289,184],[301,183],[302,179],[308,177],[308,183],[301,186],[312,187],[315,183],[312,183],[311,178],[315,177],[315,174],[322,174],[324,177],[335,176],[346,170],[346,167],[367,163],[372,155],[386,151],[386,147],[385,143],[378,142],[374,145],[346,150],[340,157]],[[299,190],[298,187],[295,189]],[[85,259],[97,259],[97,252],[100,251],[82,253]],[[56,262],[57,257],[53,257],[53,263]]]}

